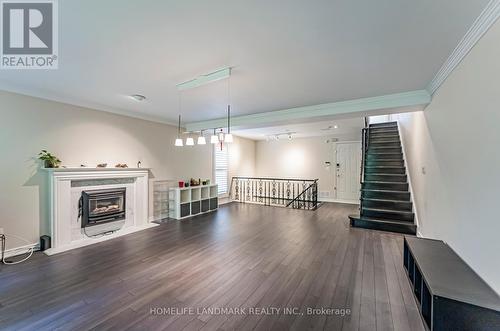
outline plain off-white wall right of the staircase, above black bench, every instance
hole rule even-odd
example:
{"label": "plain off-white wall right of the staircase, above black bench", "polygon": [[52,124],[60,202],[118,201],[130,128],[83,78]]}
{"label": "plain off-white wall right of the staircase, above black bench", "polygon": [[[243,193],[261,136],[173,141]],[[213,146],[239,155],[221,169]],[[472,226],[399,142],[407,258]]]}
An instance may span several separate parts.
{"label": "plain off-white wall right of the staircase, above black bench", "polygon": [[[402,126],[420,232],[500,292],[500,21]],[[422,169],[424,168],[424,171]],[[425,172],[425,173],[424,173]]]}

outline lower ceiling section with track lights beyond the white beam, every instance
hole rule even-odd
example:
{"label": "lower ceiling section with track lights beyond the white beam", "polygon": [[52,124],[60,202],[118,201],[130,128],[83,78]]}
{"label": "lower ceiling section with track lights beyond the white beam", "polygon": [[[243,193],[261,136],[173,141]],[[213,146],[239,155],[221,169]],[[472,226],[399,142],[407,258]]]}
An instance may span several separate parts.
{"label": "lower ceiling section with track lights beyond the white beam", "polygon": [[363,118],[340,120],[326,120],[321,122],[279,125],[273,127],[233,130],[239,137],[253,140],[273,140],[276,135],[280,139],[329,136],[333,138],[360,139],[361,129],[364,127]]}

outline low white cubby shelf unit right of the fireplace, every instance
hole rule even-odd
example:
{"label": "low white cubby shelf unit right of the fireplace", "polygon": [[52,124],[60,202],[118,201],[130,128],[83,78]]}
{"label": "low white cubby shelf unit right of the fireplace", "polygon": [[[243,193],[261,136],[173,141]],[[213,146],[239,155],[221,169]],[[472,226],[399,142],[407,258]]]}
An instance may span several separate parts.
{"label": "low white cubby shelf unit right of the fireplace", "polygon": [[219,207],[217,184],[171,188],[169,200],[170,218],[180,220],[208,213]]}

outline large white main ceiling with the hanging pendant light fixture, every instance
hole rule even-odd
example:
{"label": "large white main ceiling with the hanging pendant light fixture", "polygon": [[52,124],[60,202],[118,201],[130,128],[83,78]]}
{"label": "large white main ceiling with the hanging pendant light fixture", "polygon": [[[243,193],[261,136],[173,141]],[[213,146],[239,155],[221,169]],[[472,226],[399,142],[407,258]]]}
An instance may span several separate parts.
{"label": "large white main ceiling with the hanging pendant light fixture", "polygon": [[[423,89],[488,0],[59,1],[59,69],[0,88],[153,120],[233,115]],[[131,94],[143,94],[137,102]]]}

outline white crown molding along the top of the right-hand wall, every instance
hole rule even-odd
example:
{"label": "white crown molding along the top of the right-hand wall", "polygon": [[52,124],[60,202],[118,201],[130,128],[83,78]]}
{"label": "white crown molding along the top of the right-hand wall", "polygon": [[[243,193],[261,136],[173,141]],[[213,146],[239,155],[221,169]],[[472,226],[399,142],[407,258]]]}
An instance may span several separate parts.
{"label": "white crown molding along the top of the right-hand wall", "polygon": [[479,17],[474,21],[457,47],[439,69],[436,76],[427,85],[427,91],[433,95],[451,75],[458,64],[469,54],[471,49],[500,17],[500,0],[491,0]]}

